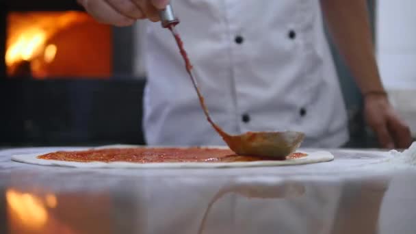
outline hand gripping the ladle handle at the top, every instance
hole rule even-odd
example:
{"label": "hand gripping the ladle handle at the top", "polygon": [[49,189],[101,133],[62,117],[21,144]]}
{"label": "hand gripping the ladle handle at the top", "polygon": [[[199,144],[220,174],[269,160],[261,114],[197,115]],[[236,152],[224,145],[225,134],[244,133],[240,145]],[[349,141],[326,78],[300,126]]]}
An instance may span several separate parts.
{"label": "hand gripping the ladle handle at the top", "polygon": [[97,21],[116,26],[132,25],[138,19],[159,21],[158,11],[169,0],[77,0]]}

